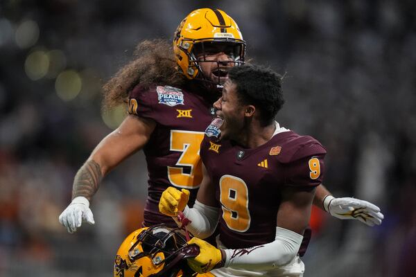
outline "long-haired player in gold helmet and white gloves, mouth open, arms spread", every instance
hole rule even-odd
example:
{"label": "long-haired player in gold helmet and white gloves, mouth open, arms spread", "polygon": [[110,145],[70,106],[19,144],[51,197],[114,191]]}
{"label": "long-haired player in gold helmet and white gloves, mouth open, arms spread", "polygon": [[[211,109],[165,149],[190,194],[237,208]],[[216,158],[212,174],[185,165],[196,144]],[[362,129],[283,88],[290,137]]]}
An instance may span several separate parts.
{"label": "long-haired player in gold helmet and white gloves, mouth open, arms spread", "polygon": [[[176,226],[171,217],[159,213],[160,196],[168,186],[187,189],[188,205],[193,206],[202,181],[199,151],[211,122],[211,105],[229,69],[244,64],[245,41],[232,17],[222,10],[202,8],[182,20],[173,46],[161,39],[146,40],[135,54],[135,60],[103,87],[105,108],[128,102],[128,116],[98,143],[78,170],[72,201],[59,217],[69,233],[83,222],[95,223],[89,205],[101,180],[139,150],[146,155],[148,170],[144,226],[161,222]],[[366,224],[381,222],[375,206],[351,198],[328,201],[327,197],[324,203],[327,195],[318,186],[314,202],[329,207],[331,214],[357,218],[351,211],[361,208]]]}

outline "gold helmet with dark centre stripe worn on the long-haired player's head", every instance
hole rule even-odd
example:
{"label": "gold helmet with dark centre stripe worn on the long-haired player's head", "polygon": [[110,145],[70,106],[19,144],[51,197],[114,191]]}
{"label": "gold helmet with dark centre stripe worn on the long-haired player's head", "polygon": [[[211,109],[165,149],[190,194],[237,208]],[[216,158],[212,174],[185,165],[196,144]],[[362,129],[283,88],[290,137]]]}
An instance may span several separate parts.
{"label": "gold helmet with dark centre stripe worn on the long-haired player's head", "polygon": [[[236,21],[223,10],[202,8],[185,17],[175,31],[173,52],[177,69],[188,79],[204,79],[198,54],[220,46],[234,65],[244,63],[245,41]],[[212,82],[212,81],[211,81]],[[220,78],[218,75],[218,84]]]}

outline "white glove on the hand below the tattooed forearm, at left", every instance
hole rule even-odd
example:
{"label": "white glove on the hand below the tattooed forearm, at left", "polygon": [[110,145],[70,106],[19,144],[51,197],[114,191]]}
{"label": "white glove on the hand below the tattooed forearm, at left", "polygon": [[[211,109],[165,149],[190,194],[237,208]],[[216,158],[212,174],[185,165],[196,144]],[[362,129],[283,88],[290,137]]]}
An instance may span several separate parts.
{"label": "white glove on the hand below the tattooed forearm, at left", "polygon": [[83,196],[72,199],[71,204],[60,214],[59,222],[67,227],[69,233],[74,233],[82,222],[95,224],[88,199]]}

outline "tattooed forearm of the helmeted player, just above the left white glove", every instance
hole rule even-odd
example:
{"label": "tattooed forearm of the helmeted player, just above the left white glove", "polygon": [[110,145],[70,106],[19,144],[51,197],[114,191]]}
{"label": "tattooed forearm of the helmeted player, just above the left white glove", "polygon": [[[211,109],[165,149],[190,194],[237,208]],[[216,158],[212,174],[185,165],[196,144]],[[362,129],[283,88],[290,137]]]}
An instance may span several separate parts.
{"label": "tattooed forearm of the helmeted player, just above the left white glove", "polygon": [[98,190],[101,179],[103,179],[101,166],[94,160],[86,161],[73,179],[72,199],[83,196],[91,202],[92,197]]}

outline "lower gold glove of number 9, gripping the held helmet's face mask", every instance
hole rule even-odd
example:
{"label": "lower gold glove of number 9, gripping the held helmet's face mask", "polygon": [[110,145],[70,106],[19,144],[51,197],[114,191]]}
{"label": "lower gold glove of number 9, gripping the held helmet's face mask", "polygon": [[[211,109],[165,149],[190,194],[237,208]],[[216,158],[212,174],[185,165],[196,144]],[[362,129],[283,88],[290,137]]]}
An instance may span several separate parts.
{"label": "lower gold glove of number 9, gripping the held helmet's face mask", "polygon": [[189,267],[198,273],[206,273],[211,269],[223,267],[223,254],[220,249],[212,246],[205,240],[193,237],[188,244],[196,244],[200,248],[200,253],[195,258],[187,260]]}

